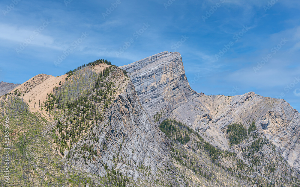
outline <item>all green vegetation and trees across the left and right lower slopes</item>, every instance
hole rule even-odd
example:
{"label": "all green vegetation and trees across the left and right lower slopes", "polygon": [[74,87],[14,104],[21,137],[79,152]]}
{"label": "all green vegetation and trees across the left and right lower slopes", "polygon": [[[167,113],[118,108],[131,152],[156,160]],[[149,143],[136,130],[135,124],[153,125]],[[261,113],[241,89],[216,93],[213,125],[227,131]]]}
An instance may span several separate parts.
{"label": "all green vegetation and trees across the left and right lower slopes", "polygon": [[[3,123],[3,117],[10,117],[10,134],[14,137],[10,144],[12,186],[128,187],[137,183],[132,178],[125,177],[116,167],[110,168],[107,165],[104,165],[107,171],[105,177],[64,170],[65,163],[61,162],[61,158],[73,158],[75,153],[70,149],[80,139],[88,137],[91,138],[89,140],[98,141],[99,137],[91,128],[103,124],[104,114],[120,89],[114,79],[111,79],[115,73],[120,72],[118,67],[110,66],[96,74],[88,69],[92,65],[69,72],[70,78],[66,83],[55,87],[53,94],[47,96],[48,101],[42,103],[46,112],[55,118],[53,128],[48,128],[53,124],[49,124],[39,113],[29,112],[28,106],[16,96],[21,96],[21,93],[16,91],[15,95],[10,93],[1,98],[0,122]],[[161,115],[158,113],[154,118],[158,122]],[[208,183],[213,186],[300,186],[292,168],[277,153],[274,145],[255,133],[254,122],[248,130],[242,124],[231,124],[226,129],[232,146],[238,147],[244,140],[249,142],[241,150],[242,158],[238,158],[236,153],[214,147],[198,132],[175,119],[162,120],[159,128],[172,142],[170,154],[176,168],[170,163],[166,169],[162,167],[158,174],[153,174],[151,168],[140,165],[138,171],[145,177],[144,183],[138,182],[140,186],[171,187],[174,185],[172,181],[186,186]],[[1,126],[2,137],[3,132]],[[106,150],[106,145],[103,145],[102,150]],[[78,151],[81,155],[88,155],[83,156],[85,164],[93,162],[99,156],[97,148],[91,144],[82,144]],[[272,157],[268,157],[269,154]],[[3,157],[1,159],[3,161]],[[122,156],[114,155],[114,165],[120,162],[124,163]],[[3,167],[2,164],[1,169]],[[176,172],[176,175],[169,175],[172,172]],[[192,180],[187,172],[196,176],[197,180]],[[276,176],[276,172],[280,176]],[[4,178],[0,177],[0,186],[2,184]]]}

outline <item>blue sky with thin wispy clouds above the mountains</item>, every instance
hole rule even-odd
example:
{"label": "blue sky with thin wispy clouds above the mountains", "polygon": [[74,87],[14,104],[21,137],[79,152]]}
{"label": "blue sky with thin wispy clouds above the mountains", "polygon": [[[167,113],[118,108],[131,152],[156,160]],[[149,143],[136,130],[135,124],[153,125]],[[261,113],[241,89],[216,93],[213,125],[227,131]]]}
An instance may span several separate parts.
{"label": "blue sky with thin wispy clouds above the mountains", "polygon": [[300,110],[299,9],[298,0],[2,0],[0,81],[177,51],[197,92],[253,91]]}

